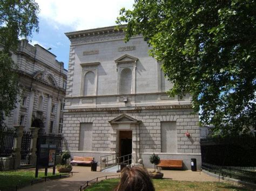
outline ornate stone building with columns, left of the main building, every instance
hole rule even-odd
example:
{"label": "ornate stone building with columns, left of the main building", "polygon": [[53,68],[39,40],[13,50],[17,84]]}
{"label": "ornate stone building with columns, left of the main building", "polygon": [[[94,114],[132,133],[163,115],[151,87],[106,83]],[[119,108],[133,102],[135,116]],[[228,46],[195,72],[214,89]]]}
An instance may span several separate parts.
{"label": "ornate stone building with columns, left of the main building", "polygon": [[42,46],[32,46],[25,39],[20,41],[12,58],[18,66],[21,95],[5,124],[8,128],[23,125],[25,131],[33,126],[41,132],[60,133],[67,75],[64,63]]}

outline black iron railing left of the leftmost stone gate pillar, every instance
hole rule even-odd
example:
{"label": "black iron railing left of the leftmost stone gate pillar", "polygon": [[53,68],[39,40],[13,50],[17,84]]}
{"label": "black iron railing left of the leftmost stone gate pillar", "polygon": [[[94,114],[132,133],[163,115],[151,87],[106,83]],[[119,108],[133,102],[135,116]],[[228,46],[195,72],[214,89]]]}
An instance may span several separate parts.
{"label": "black iron railing left of the leftmost stone gate pillar", "polygon": [[9,157],[12,155],[16,136],[15,129],[0,130],[0,157]]}

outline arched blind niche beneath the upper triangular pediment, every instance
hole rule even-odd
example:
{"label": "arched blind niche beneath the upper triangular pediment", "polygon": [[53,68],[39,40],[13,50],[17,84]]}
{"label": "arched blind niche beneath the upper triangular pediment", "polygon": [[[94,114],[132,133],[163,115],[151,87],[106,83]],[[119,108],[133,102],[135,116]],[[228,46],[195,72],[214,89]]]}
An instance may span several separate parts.
{"label": "arched blind niche beneath the upper triangular pediment", "polygon": [[124,68],[121,72],[120,94],[131,94],[132,92],[132,70]]}

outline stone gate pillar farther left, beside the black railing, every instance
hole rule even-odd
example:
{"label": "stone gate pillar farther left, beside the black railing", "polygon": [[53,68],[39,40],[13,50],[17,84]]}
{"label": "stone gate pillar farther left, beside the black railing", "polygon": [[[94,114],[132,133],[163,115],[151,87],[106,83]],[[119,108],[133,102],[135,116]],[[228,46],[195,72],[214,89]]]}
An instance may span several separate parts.
{"label": "stone gate pillar farther left, beside the black railing", "polygon": [[14,144],[14,169],[16,169],[21,166],[21,144],[22,144],[24,126],[15,125],[14,128],[17,133],[17,136],[15,137],[15,144]]}

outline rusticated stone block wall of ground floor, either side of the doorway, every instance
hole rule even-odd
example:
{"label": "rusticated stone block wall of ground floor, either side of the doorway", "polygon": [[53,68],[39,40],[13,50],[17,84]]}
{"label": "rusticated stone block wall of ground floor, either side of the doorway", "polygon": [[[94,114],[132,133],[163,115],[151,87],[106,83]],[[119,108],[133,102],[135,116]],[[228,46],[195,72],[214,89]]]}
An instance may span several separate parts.
{"label": "rusticated stone block wall of ground floor, either side of the doorway", "polygon": [[[191,115],[192,110],[144,110],[127,115],[142,121],[139,126],[139,152],[161,152],[161,122],[176,122],[177,152],[200,153],[200,133],[198,115]],[[168,115],[168,114],[171,115]],[[154,115],[157,114],[157,115]],[[92,123],[92,148],[90,151],[111,152],[111,132],[113,127],[110,120],[120,115],[119,112],[66,112],[64,114],[63,136],[70,151],[79,150],[79,129],[82,123]],[[148,119],[150,118],[150,119]],[[180,121],[191,121],[180,122]],[[185,133],[190,133],[186,137]]]}

